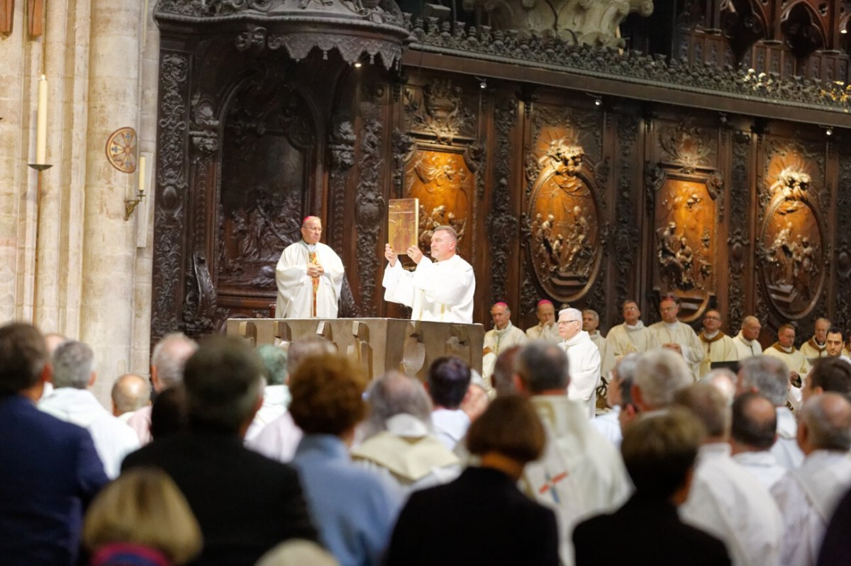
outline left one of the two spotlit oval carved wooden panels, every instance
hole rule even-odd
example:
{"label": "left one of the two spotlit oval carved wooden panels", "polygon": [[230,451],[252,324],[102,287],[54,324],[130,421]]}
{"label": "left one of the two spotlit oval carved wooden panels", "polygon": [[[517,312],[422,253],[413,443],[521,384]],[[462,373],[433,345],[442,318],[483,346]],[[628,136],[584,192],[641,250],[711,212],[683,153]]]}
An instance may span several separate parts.
{"label": "left one of the two spotlit oval carved wooden panels", "polygon": [[540,105],[533,120],[527,263],[546,297],[570,303],[591,289],[603,255],[599,118]]}

